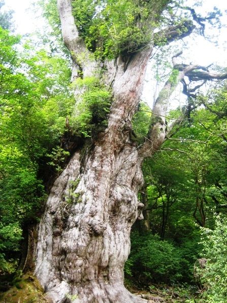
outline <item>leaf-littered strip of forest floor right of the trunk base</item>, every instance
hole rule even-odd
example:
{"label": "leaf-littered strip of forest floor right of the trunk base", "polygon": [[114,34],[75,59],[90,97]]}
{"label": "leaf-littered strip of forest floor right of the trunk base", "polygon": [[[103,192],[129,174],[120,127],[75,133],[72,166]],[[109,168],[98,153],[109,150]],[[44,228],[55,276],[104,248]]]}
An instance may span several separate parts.
{"label": "leaf-littered strip of forest floor right of the trunk base", "polygon": [[194,285],[166,285],[158,284],[149,286],[148,289],[139,290],[134,286],[126,285],[127,289],[138,296],[153,302],[199,302],[200,291]]}

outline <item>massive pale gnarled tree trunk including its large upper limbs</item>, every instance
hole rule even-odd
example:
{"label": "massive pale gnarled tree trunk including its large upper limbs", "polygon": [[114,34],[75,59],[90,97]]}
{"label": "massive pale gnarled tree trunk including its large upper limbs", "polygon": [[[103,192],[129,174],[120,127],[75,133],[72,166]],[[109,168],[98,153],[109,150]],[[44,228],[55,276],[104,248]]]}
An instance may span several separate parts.
{"label": "massive pale gnarled tree trunk including its large upper limbs", "polygon": [[[73,78],[78,77],[78,70],[91,76],[102,67],[113,102],[105,132],[83,150],[83,157],[77,150],[55,180],[40,222],[35,275],[53,302],[70,298],[84,303],[144,301],[123,285],[131,227],[142,219],[143,204],[137,198],[143,185],[141,165],[165,140],[168,100],[186,68],[176,81],[167,81],[153,109],[159,118],[152,119],[148,138],[139,148],[130,139],[131,120],[152,43],[126,59],[119,56],[104,64],[91,61],[74,23],[71,1],[58,0],[58,10],[62,36],[72,54]],[[173,35],[168,35],[171,40]],[[81,64],[77,54],[82,52],[87,59]]]}

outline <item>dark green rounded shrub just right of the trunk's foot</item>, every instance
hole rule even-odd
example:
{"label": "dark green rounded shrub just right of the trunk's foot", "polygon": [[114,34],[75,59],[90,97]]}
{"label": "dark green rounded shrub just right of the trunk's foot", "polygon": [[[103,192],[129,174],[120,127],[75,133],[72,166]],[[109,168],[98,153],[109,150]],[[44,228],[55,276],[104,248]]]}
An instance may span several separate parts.
{"label": "dark green rounded shrub just right of the trunk's foot", "polygon": [[[156,235],[139,236],[132,233],[132,250],[126,269],[133,275],[140,275],[140,281],[174,282],[182,278],[181,255],[179,249],[168,241],[161,241]],[[132,275],[132,274],[131,274]]]}

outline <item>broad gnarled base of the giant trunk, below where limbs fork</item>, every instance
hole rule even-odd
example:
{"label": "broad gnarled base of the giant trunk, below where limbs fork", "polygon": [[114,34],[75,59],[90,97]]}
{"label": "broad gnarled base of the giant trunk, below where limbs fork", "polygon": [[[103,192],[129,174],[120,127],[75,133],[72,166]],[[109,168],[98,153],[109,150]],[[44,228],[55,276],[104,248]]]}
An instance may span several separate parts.
{"label": "broad gnarled base of the giant trunk, below where limbs fork", "polygon": [[109,140],[96,142],[84,167],[75,153],[48,198],[35,274],[53,302],[143,301],[123,286],[131,226],[143,207],[138,151]]}

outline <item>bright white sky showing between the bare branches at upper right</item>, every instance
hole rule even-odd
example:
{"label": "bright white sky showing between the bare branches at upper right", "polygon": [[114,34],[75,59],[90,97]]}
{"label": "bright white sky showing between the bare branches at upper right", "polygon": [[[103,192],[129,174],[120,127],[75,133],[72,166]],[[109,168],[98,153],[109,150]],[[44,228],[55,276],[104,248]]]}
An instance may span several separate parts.
{"label": "bright white sky showing between the bare branches at upper right", "polygon": [[[188,0],[186,5],[193,8],[193,3],[194,0]],[[182,56],[178,58],[179,63],[198,64],[205,67],[213,64],[227,69],[227,1],[215,0],[214,2],[213,0],[204,0],[202,7],[194,7],[194,9],[196,12],[201,13],[202,17],[206,17],[208,12],[213,11],[214,6],[220,9],[223,14],[223,16],[220,17],[222,27],[217,29],[206,24],[205,34],[212,38],[212,42],[202,36],[192,34],[189,37],[184,38],[182,40],[183,42],[178,41],[176,43],[171,43],[173,46],[175,44],[175,51],[173,51],[172,55],[176,54],[180,50],[183,51]],[[217,44],[215,41],[217,41]],[[176,45],[178,46],[176,47]],[[176,49],[178,49],[178,51],[176,51]],[[171,63],[172,55],[170,52],[168,55],[168,60]],[[163,67],[156,67],[155,64],[151,61],[148,65],[142,95],[142,100],[151,107],[155,97],[158,96],[160,89],[167,80],[167,78],[163,78],[160,79],[159,82],[156,81],[153,70],[155,68],[162,70]],[[170,109],[184,105],[185,101],[186,96],[182,94],[182,84],[180,83],[171,97]]]}

